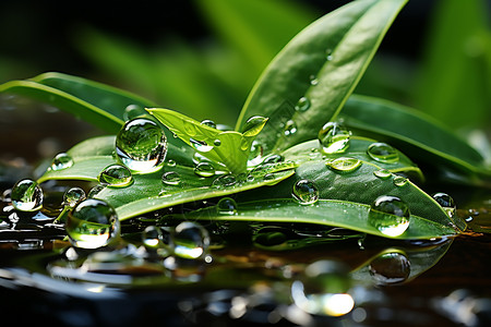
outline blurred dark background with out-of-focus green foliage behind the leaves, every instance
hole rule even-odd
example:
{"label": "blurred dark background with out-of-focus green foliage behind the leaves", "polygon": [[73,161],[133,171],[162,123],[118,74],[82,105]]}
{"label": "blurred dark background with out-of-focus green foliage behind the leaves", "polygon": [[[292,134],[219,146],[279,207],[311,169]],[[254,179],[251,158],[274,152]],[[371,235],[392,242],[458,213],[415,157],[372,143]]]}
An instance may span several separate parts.
{"label": "blurred dark background with out-of-focus green foliage behind the leaves", "polygon": [[[0,83],[64,72],[233,125],[275,53],[347,2],[2,1]],[[356,93],[419,108],[460,133],[489,133],[489,20],[487,0],[410,0]]]}

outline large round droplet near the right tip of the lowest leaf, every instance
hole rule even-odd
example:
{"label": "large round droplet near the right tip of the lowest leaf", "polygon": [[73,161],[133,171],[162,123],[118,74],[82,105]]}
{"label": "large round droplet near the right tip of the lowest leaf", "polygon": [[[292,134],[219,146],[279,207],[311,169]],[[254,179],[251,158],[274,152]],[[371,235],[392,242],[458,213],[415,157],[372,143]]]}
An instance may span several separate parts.
{"label": "large round droplet near the right tip of the lowest leaf", "polygon": [[379,196],[370,207],[369,223],[387,237],[402,235],[409,227],[409,207],[400,198]]}

